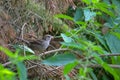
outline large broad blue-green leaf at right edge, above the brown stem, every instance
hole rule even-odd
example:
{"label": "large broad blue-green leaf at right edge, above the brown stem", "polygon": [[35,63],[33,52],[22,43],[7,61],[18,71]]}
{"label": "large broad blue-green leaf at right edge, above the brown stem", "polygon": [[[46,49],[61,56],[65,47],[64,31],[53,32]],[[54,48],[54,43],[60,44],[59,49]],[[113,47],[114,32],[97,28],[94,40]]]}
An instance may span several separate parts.
{"label": "large broad blue-green leaf at right edge, above the brown stem", "polygon": [[[120,53],[120,37],[118,32],[111,32],[105,36],[107,45],[112,54]],[[120,64],[120,57],[111,57],[113,64]],[[118,70],[117,70],[118,71]]]}

